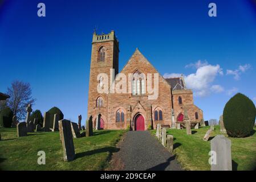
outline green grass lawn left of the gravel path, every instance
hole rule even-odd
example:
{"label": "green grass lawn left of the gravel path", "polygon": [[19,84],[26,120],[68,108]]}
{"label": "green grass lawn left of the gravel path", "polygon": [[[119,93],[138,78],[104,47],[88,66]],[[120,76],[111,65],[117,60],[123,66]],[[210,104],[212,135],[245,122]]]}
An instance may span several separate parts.
{"label": "green grass lawn left of the gravel path", "polygon": [[[17,138],[16,129],[0,128],[1,170],[103,170],[125,130],[94,131],[92,137],[74,139],[76,159],[63,161],[58,132],[29,133]],[[38,151],[46,152],[46,165],[38,165]]]}

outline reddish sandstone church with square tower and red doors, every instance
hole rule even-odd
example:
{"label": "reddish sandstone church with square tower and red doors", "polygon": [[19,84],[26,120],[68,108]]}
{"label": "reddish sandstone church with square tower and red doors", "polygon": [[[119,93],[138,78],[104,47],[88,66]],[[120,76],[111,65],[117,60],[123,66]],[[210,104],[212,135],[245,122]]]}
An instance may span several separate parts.
{"label": "reddish sandstone church with square tower and red doors", "polygon": [[[99,93],[100,73],[111,78],[110,69],[115,69],[112,77],[123,73],[127,82],[131,82],[129,93]],[[156,68],[136,49],[133,55],[119,72],[119,40],[115,32],[97,35],[92,38],[90,67],[90,84],[88,90],[88,118],[92,117],[97,129],[155,129],[158,123],[163,127],[177,127],[183,122],[184,109],[190,121],[199,123],[203,119],[203,111],[194,105],[193,92],[186,88],[184,78],[164,78],[159,73],[159,94],[155,100],[149,100],[146,91],[147,75],[157,72]],[[110,79],[109,79],[110,80]],[[116,82],[116,81],[115,81]]]}

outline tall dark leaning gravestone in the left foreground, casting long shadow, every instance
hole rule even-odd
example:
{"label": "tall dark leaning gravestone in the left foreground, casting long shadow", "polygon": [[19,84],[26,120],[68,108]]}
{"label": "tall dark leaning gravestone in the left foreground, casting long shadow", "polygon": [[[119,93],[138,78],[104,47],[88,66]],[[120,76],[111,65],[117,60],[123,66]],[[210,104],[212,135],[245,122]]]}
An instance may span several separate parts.
{"label": "tall dark leaning gravestone in the left foreground, casting long shadow", "polygon": [[64,161],[70,162],[75,159],[75,147],[71,131],[71,122],[67,119],[59,121],[59,135],[63,147]]}

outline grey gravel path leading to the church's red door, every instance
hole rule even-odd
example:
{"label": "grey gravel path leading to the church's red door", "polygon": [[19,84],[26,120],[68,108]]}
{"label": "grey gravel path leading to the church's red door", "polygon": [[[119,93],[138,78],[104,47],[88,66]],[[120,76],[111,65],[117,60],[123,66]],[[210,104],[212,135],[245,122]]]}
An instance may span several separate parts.
{"label": "grey gravel path leading to the church's red door", "polygon": [[116,170],[182,170],[175,156],[170,154],[149,131],[128,131],[113,155]]}

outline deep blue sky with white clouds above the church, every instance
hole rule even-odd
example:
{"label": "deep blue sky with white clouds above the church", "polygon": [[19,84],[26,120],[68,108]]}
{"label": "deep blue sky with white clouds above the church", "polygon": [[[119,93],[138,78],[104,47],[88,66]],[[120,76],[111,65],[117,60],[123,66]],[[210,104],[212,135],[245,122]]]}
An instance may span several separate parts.
{"label": "deep blue sky with white clouds above the church", "polygon": [[[40,2],[46,17],[37,16]],[[217,17],[208,16],[210,2]],[[30,82],[34,110],[57,106],[84,123],[95,27],[115,30],[119,69],[138,47],[161,75],[183,73],[205,119],[218,119],[237,92],[256,102],[256,3],[242,0],[3,1],[0,92]]]}

